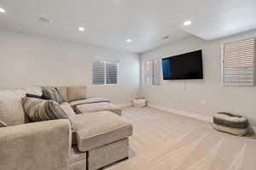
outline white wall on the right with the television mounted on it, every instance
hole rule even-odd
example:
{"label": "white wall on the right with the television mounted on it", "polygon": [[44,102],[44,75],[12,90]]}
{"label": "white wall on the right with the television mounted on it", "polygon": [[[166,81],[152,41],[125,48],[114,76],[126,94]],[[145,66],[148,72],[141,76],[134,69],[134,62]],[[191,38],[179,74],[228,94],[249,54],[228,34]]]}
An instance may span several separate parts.
{"label": "white wall on the right with the television mounted on it", "polygon": [[[204,116],[212,116],[217,111],[240,113],[256,126],[256,88],[220,85],[221,44],[247,37],[256,37],[256,30],[210,42],[190,37],[141,54],[143,63],[157,56],[169,57],[202,49],[205,76],[204,80],[163,81],[160,86],[142,85],[141,95],[148,98],[149,104]],[[201,105],[202,101],[206,105]]]}

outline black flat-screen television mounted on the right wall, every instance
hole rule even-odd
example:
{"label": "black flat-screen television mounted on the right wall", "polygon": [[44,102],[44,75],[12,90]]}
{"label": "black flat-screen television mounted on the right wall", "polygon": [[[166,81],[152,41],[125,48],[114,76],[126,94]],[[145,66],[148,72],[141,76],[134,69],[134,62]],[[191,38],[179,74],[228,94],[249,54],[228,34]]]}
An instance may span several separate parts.
{"label": "black flat-screen television mounted on the right wall", "polygon": [[164,80],[203,79],[201,50],[162,59]]}

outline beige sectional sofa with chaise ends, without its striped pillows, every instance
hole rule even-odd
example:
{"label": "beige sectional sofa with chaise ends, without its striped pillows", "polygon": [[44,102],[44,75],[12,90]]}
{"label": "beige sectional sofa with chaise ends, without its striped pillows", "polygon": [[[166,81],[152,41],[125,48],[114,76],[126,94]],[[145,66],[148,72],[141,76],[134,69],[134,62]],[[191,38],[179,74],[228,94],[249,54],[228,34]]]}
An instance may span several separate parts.
{"label": "beige sectional sofa with chaise ends, without its striped pillows", "polygon": [[0,126],[0,169],[96,170],[128,157],[132,126],[119,106],[87,99],[84,86],[54,88],[69,120],[29,122],[20,101],[39,87],[0,91],[0,121],[11,122]]}

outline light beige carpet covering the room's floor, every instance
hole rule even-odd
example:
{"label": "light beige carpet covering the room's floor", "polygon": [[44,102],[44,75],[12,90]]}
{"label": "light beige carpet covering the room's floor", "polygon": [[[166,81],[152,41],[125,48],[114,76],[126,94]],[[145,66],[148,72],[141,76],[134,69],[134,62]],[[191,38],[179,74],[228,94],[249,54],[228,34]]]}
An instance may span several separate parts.
{"label": "light beige carpet covering the room's floor", "polygon": [[130,159],[108,170],[255,170],[256,141],[211,124],[150,108],[127,108],[134,126]]}

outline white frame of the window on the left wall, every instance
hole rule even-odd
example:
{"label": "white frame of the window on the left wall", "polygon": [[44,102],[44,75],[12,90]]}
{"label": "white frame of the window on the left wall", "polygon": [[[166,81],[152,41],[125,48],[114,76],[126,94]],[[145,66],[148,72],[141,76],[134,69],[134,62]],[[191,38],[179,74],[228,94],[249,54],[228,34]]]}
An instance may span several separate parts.
{"label": "white frame of the window on the left wall", "polygon": [[[101,61],[101,62],[104,62],[104,84],[94,84],[93,83],[93,63],[98,60],[98,61]],[[116,71],[116,84],[108,84],[107,83],[107,62],[108,61],[114,61],[116,62],[116,65],[117,65],[117,71]],[[117,86],[119,85],[119,64],[120,64],[120,61],[119,59],[111,59],[111,58],[107,58],[107,57],[100,57],[100,56],[93,56],[93,59],[92,59],[92,68],[91,68],[91,71],[92,71],[92,74],[91,74],[91,84],[93,86]]]}

